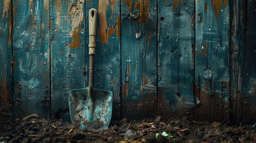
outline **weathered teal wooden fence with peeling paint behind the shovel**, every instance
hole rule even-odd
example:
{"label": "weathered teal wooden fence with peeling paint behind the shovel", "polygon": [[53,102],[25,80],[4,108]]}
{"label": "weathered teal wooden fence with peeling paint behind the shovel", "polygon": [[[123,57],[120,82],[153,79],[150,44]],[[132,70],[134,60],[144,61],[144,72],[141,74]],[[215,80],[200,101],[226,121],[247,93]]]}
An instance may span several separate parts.
{"label": "weathered teal wooden fence with peeling paint behind the shovel", "polygon": [[70,121],[88,83],[88,11],[98,9],[95,87],[113,119],[256,121],[256,0],[0,0],[0,122]]}

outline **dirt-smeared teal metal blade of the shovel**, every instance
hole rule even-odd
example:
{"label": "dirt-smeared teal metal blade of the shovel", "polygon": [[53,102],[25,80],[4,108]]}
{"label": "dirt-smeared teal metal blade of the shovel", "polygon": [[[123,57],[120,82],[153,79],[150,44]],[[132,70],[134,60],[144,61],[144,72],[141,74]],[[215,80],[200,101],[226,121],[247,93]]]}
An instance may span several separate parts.
{"label": "dirt-smeared teal metal blade of the shovel", "polygon": [[71,90],[70,117],[72,124],[81,130],[105,130],[112,115],[112,92],[89,87]]}

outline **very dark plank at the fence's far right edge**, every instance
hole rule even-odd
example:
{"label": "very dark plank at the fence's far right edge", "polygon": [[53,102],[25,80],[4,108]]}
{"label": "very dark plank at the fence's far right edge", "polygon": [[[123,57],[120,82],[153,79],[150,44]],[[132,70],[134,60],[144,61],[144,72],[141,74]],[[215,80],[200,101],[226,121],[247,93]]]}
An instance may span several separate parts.
{"label": "very dark plank at the fence's far right edge", "polygon": [[245,79],[242,81],[242,122],[255,123],[256,121],[256,0],[247,3],[247,35],[245,54]]}

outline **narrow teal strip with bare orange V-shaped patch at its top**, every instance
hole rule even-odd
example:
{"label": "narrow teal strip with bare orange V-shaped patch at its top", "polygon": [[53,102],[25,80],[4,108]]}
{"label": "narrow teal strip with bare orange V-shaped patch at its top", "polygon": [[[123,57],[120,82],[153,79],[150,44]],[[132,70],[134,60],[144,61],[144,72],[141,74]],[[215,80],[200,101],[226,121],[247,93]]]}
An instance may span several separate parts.
{"label": "narrow teal strip with bare orange V-shaped patch at its top", "polygon": [[[212,7],[213,2],[211,3]],[[211,121],[229,122],[229,2],[214,3],[212,28],[213,96]]]}

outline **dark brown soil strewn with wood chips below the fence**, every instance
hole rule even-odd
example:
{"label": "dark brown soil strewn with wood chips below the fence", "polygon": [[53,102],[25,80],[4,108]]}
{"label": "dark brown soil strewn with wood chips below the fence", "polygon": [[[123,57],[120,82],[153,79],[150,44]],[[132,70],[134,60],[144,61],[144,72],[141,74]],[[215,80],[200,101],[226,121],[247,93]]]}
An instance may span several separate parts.
{"label": "dark brown soil strewn with wood chips below the fence", "polygon": [[156,117],[141,121],[122,119],[112,121],[107,130],[81,132],[70,123],[46,121],[32,114],[0,125],[0,143],[256,143],[251,127]]}

